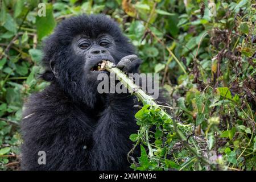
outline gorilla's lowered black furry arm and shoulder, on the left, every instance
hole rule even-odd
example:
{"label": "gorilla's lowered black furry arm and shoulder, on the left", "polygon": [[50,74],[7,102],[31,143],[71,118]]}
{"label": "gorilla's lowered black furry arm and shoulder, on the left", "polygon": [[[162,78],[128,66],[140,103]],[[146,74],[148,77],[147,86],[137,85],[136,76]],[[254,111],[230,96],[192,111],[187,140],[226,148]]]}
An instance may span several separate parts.
{"label": "gorilla's lowered black furry arm and shoulder, on the left", "polygon": [[[75,105],[59,100],[65,97],[55,89],[50,85],[31,96],[26,106],[22,121],[22,169],[90,169],[88,151],[94,130],[92,119]],[[39,151],[46,152],[46,164],[38,164]]]}

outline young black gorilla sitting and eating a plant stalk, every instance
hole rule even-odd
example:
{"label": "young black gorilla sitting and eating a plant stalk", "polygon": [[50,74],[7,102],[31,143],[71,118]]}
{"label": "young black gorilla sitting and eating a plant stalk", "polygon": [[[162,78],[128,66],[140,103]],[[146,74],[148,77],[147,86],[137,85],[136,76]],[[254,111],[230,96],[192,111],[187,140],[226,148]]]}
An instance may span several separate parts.
{"label": "young black gorilla sitting and eating a plant stalk", "polygon": [[[99,94],[102,60],[127,73],[141,60],[112,19],[82,15],[64,20],[46,40],[42,78],[51,84],[33,94],[22,121],[24,170],[129,169],[131,133],[137,132],[135,98]],[[39,151],[46,164],[38,164]]]}

